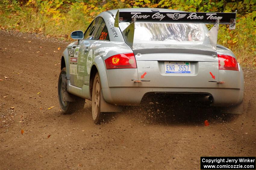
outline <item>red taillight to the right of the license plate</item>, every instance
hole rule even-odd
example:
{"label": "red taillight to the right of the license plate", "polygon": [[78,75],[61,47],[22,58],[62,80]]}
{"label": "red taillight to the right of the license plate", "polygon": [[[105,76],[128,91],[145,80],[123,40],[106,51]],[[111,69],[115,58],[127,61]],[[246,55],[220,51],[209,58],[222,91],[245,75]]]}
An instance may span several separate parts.
{"label": "red taillight to the right of the license plate", "polygon": [[218,54],[218,59],[219,70],[239,70],[236,58],[229,55]]}

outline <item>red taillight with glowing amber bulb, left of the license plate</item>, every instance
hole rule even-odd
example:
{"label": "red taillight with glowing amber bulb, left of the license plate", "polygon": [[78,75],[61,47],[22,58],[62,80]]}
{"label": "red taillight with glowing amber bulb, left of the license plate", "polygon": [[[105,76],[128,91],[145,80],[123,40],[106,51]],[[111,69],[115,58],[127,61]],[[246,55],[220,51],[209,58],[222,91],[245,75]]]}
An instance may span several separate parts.
{"label": "red taillight with glowing amber bulb, left of the license plate", "polygon": [[105,64],[107,69],[137,68],[135,56],[133,53],[113,55],[105,60]]}

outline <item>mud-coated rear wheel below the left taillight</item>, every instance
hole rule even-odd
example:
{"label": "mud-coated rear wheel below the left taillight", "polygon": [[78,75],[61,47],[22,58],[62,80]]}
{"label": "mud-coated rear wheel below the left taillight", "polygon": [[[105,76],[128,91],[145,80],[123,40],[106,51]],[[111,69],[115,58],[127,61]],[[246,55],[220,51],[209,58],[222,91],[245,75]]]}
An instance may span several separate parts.
{"label": "mud-coated rear wheel below the left taillight", "polygon": [[102,113],[100,112],[101,103],[101,82],[98,72],[96,73],[92,86],[92,119],[95,124],[100,124]]}

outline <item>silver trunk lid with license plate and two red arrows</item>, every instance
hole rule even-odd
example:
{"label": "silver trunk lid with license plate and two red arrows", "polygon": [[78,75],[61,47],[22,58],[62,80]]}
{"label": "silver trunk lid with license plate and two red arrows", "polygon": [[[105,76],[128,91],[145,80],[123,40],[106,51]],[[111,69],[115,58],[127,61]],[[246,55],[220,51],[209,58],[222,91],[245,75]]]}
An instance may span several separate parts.
{"label": "silver trunk lid with license plate and two red arrows", "polygon": [[140,87],[218,87],[218,58],[211,45],[163,47],[150,44],[134,45],[138,76],[139,80],[142,80]]}

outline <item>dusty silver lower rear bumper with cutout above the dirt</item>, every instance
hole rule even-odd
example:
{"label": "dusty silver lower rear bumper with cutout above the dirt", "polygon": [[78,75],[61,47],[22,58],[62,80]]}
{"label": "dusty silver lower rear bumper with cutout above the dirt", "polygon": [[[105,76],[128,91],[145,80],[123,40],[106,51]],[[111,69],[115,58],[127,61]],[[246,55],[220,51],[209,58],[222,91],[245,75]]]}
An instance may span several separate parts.
{"label": "dusty silver lower rear bumper with cutout above the dirt", "polygon": [[106,102],[138,106],[148,92],[205,93],[213,97],[212,106],[235,106],[243,100],[243,90],[226,88],[102,88]]}

